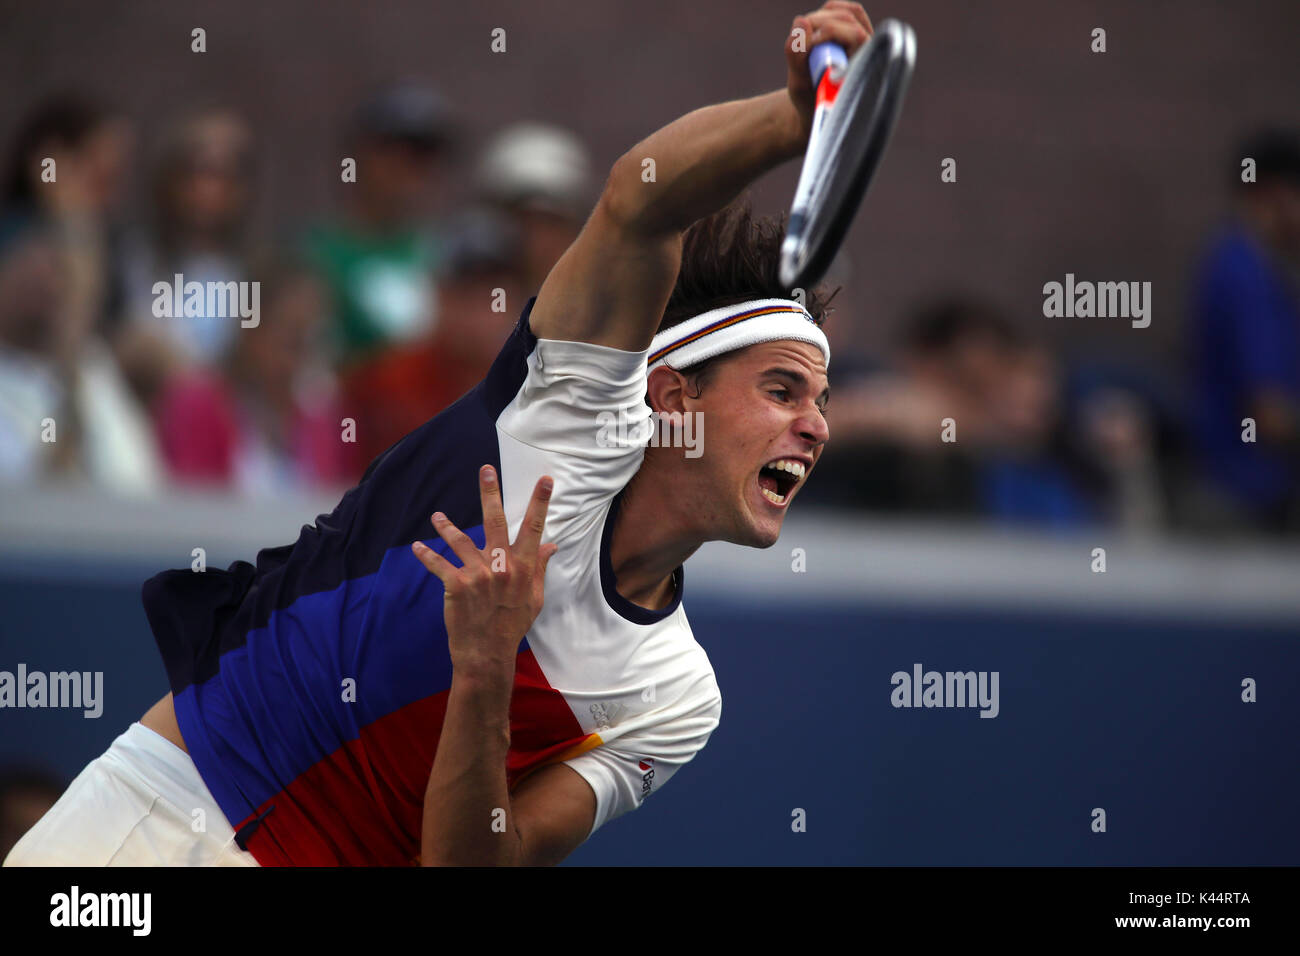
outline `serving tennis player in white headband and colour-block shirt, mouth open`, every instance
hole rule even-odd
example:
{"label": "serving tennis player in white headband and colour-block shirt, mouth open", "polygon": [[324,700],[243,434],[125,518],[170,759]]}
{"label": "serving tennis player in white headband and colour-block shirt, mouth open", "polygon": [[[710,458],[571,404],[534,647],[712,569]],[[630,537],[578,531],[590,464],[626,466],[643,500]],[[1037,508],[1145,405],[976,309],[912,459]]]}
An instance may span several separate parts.
{"label": "serving tennis player in white headband and colour-block shirt, mouth open", "polygon": [[[624,153],[482,382],[330,515],[144,584],[172,692],[6,865],[555,864],[699,753],[722,696],[682,563],[775,544],[829,437],[826,303],[733,200],[803,155],[805,49],[871,23],[793,27],[786,88]],[[702,454],[646,446],[679,415]]]}

